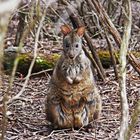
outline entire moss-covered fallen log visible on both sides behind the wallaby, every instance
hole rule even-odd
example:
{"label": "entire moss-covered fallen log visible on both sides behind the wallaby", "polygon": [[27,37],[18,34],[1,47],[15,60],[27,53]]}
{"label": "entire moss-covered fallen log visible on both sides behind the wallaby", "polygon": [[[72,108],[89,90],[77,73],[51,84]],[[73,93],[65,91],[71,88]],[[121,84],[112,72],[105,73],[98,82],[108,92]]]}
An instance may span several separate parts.
{"label": "entire moss-covered fallen log visible on both sides behind the wallaby", "polygon": [[[140,58],[140,52],[131,52],[131,53],[133,53],[136,57]],[[98,55],[104,68],[109,68],[110,66],[112,66],[112,61],[110,59],[109,51],[100,50],[98,51]],[[118,55],[119,53],[116,52],[116,58],[118,58]],[[43,54],[39,54],[36,59],[35,65],[33,67],[32,73],[39,72],[46,69],[53,69],[59,57],[60,55],[57,53],[53,53],[46,56]],[[30,53],[20,54],[18,57],[19,64],[18,64],[17,72],[26,75],[28,72],[29,66],[31,64],[32,58],[33,56]],[[14,59],[15,59],[15,56],[13,55],[12,56],[5,55],[4,69],[6,72],[8,73],[11,72],[13,68]]]}

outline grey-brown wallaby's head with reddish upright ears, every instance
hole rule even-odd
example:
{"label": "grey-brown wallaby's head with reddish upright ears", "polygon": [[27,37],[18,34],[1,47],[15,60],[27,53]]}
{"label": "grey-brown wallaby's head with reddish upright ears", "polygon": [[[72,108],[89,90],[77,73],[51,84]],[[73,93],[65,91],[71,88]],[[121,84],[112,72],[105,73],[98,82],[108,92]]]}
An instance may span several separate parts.
{"label": "grey-brown wallaby's head with reddish upright ears", "polygon": [[61,26],[63,38],[64,55],[70,59],[75,59],[82,51],[82,36],[85,27],[72,30],[68,25]]}

